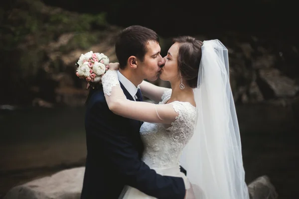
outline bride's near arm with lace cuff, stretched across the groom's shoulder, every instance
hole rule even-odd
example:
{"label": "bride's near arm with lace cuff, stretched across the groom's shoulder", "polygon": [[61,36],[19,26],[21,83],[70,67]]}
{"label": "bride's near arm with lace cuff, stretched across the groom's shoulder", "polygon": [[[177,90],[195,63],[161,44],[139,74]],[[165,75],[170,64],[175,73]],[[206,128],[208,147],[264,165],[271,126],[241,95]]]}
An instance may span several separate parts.
{"label": "bride's near arm with lace cuff, stretched across the groom's shoulder", "polygon": [[120,87],[117,71],[108,70],[102,77],[103,90],[109,109],[115,114],[131,119],[171,124],[178,113],[172,104],[153,104],[143,101],[127,100]]}

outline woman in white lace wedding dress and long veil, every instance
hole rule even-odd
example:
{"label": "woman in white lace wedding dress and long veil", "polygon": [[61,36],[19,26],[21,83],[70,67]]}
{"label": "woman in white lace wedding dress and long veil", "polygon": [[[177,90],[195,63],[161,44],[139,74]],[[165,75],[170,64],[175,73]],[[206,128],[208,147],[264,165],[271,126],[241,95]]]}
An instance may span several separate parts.
{"label": "woman in white lace wedding dress and long veil", "polygon": [[[143,95],[158,104],[127,100],[118,64],[110,64],[102,77],[110,110],[145,121],[143,161],[158,174],[182,177],[186,199],[249,199],[227,49],[219,40],[183,36],[174,39],[164,59],[160,79],[171,89],[140,85]],[[153,199],[133,187],[120,198]]]}

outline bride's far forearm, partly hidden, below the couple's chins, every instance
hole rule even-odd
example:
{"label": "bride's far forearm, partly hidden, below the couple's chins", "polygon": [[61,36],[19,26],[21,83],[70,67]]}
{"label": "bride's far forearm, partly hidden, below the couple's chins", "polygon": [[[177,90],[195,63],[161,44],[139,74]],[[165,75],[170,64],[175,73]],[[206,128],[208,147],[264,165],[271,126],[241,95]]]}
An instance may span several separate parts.
{"label": "bride's far forearm, partly hidden, below the couple's chins", "polygon": [[161,97],[165,91],[171,90],[165,87],[158,87],[147,81],[143,81],[140,84],[140,89],[145,97],[149,98],[150,100],[153,100],[156,103],[161,101]]}

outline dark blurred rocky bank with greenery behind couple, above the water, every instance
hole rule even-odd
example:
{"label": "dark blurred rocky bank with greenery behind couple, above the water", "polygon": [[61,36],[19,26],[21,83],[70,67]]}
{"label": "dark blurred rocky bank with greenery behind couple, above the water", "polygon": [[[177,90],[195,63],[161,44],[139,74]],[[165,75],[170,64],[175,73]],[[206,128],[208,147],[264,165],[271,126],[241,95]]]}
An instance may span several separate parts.
{"label": "dark blurred rocky bank with greenery behind couple, above the water", "polygon": [[9,2],[0,11],[3,104],[30,104],[38,98],[70,105],[61,95],[67,95],[66,88],[82,91],[73,76],[77,56],[95,49],[117,61],[113,37],[131,24],[154,29],[162,53],[173,36],[218,38],[229,49],[237,103],[292,103],[299,96],[299,14],[287,1]]}

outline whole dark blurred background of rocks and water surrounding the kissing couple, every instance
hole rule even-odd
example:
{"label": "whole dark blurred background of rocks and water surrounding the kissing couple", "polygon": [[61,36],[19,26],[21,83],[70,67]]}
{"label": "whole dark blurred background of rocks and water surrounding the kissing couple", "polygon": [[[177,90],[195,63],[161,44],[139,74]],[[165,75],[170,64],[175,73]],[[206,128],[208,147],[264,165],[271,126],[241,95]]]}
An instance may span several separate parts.
{"label": "whole dark blurred background of rocks and water surrounding the kissing couple", "polygon": [[[65,132],[80,129],[81,142],[76,141],[74,146],[80,145],[85,150],[83,109],[87,90],[86,83],[74,75],[74,64],[82,53],[90,50],[103,52],[111,61],[117,61],[115,35],[123,27],[140,24],[160,35],[162,55],[170,47],[171,37],[178,35],[192,35],[201,40],[217,38],[229,49],[231,86],[243,134],[247,180],[267,174],[281,198],[294,199],[299,194],[295,186],[299,177],[298,19],[295,2],[287,0],[1,2],[0,140],[3,148],[0,151],[2,161],[6,161],[0,165],[0,175],[5,179],[1,193],[49,171],[84,164],[85,151],[81,152],[81,159],[76,160],[75,155],[72,161],[62,158],[57,160],[58,166],[54,164],[50,169],[40,166],[48,164],[42,158],[28,158],[24,165],[15,167],[13,164],[20,154],[15,148],[23,150],[18,137],[25,134],[21,137],[28,135],[31,141],[38,137],[40,142],[50,140],[38,136],[40,129],[47,128],[48,134],[60,129]],[[155,84],[167,86],[164,82]],[[18,125],[15,125],[16,118]],[[33,147],[34,154],[38,147]],[[32,151],[26,154],[30,156]],[[34,155],[37,156],[44,154]],[[40,167],[32,166],[34,161]],[[39,168],[38,175],[32,174],[35,167]],[[22,180],[15,177],[28,169],[31,173],[27,177]]]}

